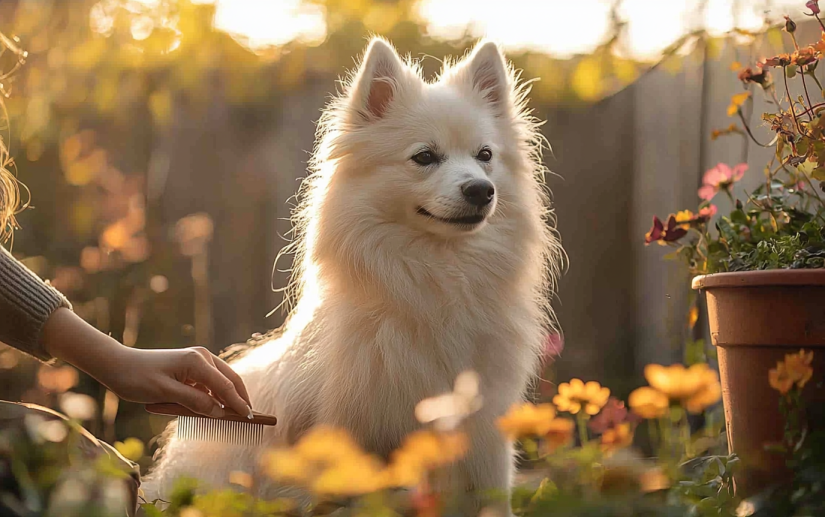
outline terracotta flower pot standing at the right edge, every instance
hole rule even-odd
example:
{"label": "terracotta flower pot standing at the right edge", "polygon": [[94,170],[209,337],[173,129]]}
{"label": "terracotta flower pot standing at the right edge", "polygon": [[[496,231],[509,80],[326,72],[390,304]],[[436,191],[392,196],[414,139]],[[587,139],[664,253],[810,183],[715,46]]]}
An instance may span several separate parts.
{"label": "terracotta flower pot standing at the right edge", "polygon": [[784,458],[765,450],[782,440],[779,393],[768,371],[785,354],[814,351],[814,376],[805,386],[812,430],[823,427],[825,390],[825,270],[718,273],[693,279],[707,300],[708,323],[717,347],[728,445],[744,469],[736,476],[740,495],[781,481]]}

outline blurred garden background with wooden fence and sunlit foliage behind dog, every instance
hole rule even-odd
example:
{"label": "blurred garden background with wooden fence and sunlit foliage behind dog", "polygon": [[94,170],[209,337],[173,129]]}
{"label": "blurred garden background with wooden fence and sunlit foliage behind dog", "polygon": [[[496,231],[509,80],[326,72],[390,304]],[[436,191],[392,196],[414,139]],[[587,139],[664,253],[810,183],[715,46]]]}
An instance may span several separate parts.
{"label": "blurred garden background with wooden fence and sunlit foliage behind dog", "polygon": [[[711,132],[738,122],[726,114],[742,91],[731,63],[790,45],[783,14],[801,39],[818,39],[803,10],[793,0],[3,0],[0,32],[14,39],[0,56],[2,134],[31,192],[12,250],[127,346],[217,352],[275,328],[284,314],[268,314],[289,268],[275,258],[314,123],[368,36],[432,77],[443,56],[488,35],[538,79],[531,105],[547,121],[569,255],[556,304],[564,350],[541,391],[577,376],[624,396],[644,364],[678,361],[706,337],[701,319],[688,329],[686,273],[643,244],[651,216],[695,207],[719,161],[751,163],[745,187],[759,182],[765,154]],[[87,426],[109,441],[149,440],[165,422],[69,366],[5,347],[0,398],[91,408]]]}

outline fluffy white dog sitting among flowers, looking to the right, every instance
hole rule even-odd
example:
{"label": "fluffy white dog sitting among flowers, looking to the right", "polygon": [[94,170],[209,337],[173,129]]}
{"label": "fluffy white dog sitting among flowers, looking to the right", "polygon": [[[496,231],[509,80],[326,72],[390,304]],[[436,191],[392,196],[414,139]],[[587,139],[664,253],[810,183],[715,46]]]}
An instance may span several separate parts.
{"label": "fluffy white dog sitting among flowers, looking to the right", "polygon": [[[233,364],[254,408],[279,419],[268,444],[328,424],[387,456],[420,426],[416,404],[473,370],[484,405],[451,482],[509,493],[513,449],[495,420],[537,373],[563,259],[526,94],[493,43],[428,83],[370,42],[302,185],[294,310]],[[181,475],[223,485],[260,452],[172,437],[144,490],[162,496]]]}

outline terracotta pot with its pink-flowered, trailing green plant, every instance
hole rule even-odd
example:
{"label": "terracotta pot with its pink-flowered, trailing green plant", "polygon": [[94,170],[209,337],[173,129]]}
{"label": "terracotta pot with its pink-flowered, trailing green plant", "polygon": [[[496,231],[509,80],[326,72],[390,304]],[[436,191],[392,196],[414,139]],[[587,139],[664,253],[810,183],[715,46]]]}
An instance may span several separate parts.
{"label": "terracotta pot with its pink-flowered, trailing green plant", "polygon": [[[806,5],[825,31],[818,2]],[[799,361],[819,363],[817,371],[825,368],[825,351],[818,351],[825,347],[825,102],[814,100],[825,96],[816,75],[825,58],[825,32],[813,45],[801,46],[788,17],[784,31],[793,51],[754,67],[737,66],[745,91],[733,96],[728,115],[738,116],[741,126],[731,124],[712,135],[740,134],[772,147],[764,181],[740,197],[734,186],[747,164],[720,163],[703,177],[697,212],[684,210],[665,221],[654,217],[645,239],[676,247],[673,256],[696,275],[693,288],[706,295],[729,447],[746,467],[737,489],[745,495],[779,478],[785,466],[781,455],[766,450],[780,443],[784,432],[778,387],[788,379],[801,380],[801,370],[793,367]],[[791,95],[793,82],[803,95]],[[753,90],[761,90],[772,107],[762,115],[773,136],[769,143],[754,136],[742,110],[752,102]],[[716,218],[712,202],[718,196],[728,197],[733,206]],[[786,361],[803,347],[817,351],[814,359],[797,354]],[[810,425],[821,428],[822,417],[814,413],[825,407],[823,390],[809,387],[800,396]]]}

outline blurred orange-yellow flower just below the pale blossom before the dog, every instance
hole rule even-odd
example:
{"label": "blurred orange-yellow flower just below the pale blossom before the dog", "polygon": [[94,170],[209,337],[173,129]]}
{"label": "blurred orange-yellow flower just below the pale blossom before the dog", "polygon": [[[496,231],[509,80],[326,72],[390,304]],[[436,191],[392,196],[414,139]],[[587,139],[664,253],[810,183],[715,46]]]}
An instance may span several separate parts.
{"label": "blurred orange-yellow flower just below the pale blossom before the dog", "polygon": [[467,448],[464,433],[412,433],[393,451],[389,479],[396,486],[418,485],[428,471],[454,463],[467,453]]}

